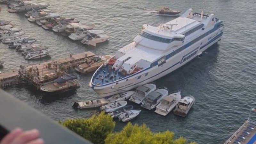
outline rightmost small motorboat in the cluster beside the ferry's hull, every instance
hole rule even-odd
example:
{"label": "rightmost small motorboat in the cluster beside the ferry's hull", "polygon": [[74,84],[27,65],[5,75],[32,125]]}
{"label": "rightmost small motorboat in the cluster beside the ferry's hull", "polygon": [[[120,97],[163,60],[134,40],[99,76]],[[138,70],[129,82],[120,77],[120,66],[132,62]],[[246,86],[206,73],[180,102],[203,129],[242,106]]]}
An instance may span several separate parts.
{"label": "rightmost small motorboat in the cluster beside the ferry's hull", "polygon": [[195,102],[195,98],[193,96],[191,95],[185,96],[179,101],[178,105],[173,110],[173,113],[175,115],[182,116],[182,117],[187,116],[194,102]]}

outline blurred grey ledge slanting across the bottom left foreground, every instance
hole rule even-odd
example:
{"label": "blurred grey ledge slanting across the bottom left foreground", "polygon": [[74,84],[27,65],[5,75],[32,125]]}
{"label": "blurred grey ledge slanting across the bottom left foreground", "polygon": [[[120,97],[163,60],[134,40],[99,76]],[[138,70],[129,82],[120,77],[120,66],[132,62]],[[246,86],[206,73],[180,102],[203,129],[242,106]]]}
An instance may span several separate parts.
{"label": "blurred grey ledge slanting across the bottom left foreground", "polygon": [[38,129],[45,144],[92,144],[0,89],[0,140],[14,128]]}

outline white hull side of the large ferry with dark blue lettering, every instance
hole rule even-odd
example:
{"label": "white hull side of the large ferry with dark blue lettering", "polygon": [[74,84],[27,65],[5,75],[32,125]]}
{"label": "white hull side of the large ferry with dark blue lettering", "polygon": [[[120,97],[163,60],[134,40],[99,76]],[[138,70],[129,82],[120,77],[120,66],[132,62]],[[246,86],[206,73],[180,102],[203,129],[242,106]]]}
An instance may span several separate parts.
{"label": "white hull side of the large ferry with dark blue lettering", "polygon": [[[108,97],[117,93],[132,90],[140,85],[153,82],[185,65],[189,61],[193,60],[197,55],[202,54],[202,52],[204,52],[207,48],[217,43],[223,34],[222,31],[220,32],[221,29],[223,29],[223,27],[216,29],[210,35],[205,36],[203,39],[199,40],[195,44],[192,44],[184,51],[176,54],[176,56],[173,56],[173,58],[170,58],[170,60],[166,60],[166,63],[161,66],[156,66],[156,68],[150,68],[135,76],[127,77],[122,81],[118,81],[118,83],[111,83],[102,86],[92,84],[91,79],[90,86],[101,97]],[[209,37],[212,38],[209,39]],[[185,60],[185,58],[187,59]],[[147,74],[147,76],[145,76],[145,74]],[[139,76],[141,76],[140,80],[138,80]]]}

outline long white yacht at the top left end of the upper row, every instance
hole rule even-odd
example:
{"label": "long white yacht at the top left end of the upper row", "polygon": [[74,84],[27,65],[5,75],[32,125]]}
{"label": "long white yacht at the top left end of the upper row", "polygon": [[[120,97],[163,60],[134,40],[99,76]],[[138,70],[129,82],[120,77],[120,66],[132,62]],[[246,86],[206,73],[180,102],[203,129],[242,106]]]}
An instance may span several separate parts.
{"label": "long white yacht at the top left end of the upper row", "polygon": [[33,8],[46,8],[50,4],[44,4],[44,3],[33,3],[31,1],[21,2],[19,5],[16,5],[12,7],[11,9],[8,9],[8,12],[14,13],[14,12],[28,12],[31,11]]}

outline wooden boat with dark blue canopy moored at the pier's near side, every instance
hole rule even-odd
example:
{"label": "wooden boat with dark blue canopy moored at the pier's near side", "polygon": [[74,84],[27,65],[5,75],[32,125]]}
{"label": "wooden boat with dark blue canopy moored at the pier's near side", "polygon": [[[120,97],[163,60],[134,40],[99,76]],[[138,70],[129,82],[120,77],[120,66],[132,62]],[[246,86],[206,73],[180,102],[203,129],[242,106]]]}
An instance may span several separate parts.
{"label": "wooden boat with dark blue canopy moored at the pier's near side", "polygon": [[42,84],[40,90],[48,93],[61,93],[76,89],[78,84],[77,77],[73,74],[66,74],[59,78]]}

